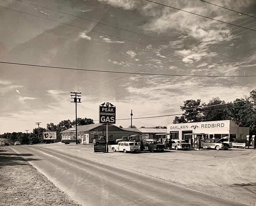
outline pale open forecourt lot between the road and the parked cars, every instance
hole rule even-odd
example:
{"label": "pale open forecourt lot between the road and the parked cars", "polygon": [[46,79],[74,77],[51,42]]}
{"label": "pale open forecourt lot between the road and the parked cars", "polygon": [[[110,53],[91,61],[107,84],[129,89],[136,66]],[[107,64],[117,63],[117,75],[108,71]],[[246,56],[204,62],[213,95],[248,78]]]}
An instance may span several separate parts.
{"label": "pale open forecourt lot between the road and the parked cars", "polygon": [[44,153],[47,150],[64,152],[241,204],[255,205],[255,149],[168,149],[164,153],[143,151],[135,154],[109,150],[109,153],[93,154],[92,145],[55,143],[22,147],[41,148]]}

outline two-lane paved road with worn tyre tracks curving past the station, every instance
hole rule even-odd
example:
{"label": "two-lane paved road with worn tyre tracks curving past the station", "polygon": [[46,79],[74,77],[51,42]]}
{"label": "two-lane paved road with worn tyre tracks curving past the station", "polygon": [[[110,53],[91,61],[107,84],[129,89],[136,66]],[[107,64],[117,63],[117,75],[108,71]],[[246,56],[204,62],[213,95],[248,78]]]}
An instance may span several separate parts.
{"label": "two-lane paved road with worn tyre tracks curving past the station", "polygon": [[[11,147],[79,203],[92,206],[242,206],[136,172],[114,168],[51,147]],[[24,155],[25,156],[25,155]],[[25,157],[26,158],[26,157]],[[156,162],[157,166],[157,162]],[[170,174],[172,175],[172,174]]]}

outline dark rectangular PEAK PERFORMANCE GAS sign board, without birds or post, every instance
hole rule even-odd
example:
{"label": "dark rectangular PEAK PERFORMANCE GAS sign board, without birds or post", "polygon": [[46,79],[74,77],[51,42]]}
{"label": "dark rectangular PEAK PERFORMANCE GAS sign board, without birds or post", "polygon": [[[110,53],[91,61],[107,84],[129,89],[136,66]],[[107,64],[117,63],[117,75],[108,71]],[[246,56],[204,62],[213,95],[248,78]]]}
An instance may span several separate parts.
{"label": "dark rectangular PEAK PERFORMANCE GAS sign board, without birds or post", "polygon": [[100,106],[99,115],[100,123],[116,123],[116,107]]}

